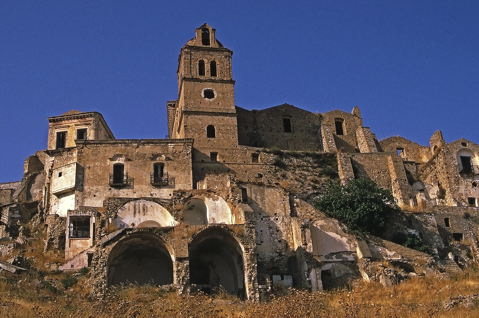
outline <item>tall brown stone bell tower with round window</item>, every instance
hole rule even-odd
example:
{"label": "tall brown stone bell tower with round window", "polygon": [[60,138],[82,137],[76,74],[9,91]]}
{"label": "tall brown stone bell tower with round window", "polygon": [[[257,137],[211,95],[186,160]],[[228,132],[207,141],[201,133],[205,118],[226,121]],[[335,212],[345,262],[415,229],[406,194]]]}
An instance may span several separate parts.
{"label": "tall brown stone bell tower with round window", "polygon": [[170,138],[194,138],[194,148],[210,156],[238,146],[233,51],[203,24],[182,47],[178,59],[178,100],[167,102]]}

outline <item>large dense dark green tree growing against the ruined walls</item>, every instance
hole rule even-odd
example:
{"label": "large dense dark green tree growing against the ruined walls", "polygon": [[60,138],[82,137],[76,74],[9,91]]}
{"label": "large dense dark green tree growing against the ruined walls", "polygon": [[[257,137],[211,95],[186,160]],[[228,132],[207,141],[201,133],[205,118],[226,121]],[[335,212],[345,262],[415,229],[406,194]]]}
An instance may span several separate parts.
{"label": "large dense dark green tree growing against the ruined walls", "polygon": [[314,206],[338,219],[350,233],[380,235],[388,216],[399,210],[389,190],[368,179],[351,180],[347,186],[329,184],[326,193],[314,201]]}

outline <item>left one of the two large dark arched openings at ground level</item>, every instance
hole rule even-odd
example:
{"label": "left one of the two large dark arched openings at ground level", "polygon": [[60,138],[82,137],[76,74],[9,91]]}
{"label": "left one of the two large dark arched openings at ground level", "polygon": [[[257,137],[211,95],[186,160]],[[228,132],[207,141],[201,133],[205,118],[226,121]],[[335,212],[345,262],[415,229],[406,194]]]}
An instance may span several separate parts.
{"label": "left one of the two large dark arched openings at ground level", "polygon": [[118,242],[108,258],[108,286],[174,283],[171,253],[158,236],[137,232]]}

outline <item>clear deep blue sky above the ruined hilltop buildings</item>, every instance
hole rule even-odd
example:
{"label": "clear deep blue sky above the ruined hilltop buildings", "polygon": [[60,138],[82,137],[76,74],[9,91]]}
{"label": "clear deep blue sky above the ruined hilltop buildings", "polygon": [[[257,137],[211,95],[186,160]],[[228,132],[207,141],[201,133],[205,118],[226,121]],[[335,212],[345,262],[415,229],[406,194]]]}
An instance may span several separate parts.
{"label": "clear deep blue sky above the ruined hilltop buildings", "polygon": [[233,50],[236,105],[359,106],[378,139],[479,143],[477,1],[0,2],[0,182],[46,148],[49,116],[103,114],[164,138],[180,48],[208,23]]}

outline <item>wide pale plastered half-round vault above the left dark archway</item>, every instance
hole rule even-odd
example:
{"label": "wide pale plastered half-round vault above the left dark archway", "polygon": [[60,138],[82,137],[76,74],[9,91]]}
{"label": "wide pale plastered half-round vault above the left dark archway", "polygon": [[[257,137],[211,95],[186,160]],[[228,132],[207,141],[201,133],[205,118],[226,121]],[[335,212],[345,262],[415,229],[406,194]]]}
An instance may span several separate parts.
{"label": "wide pale plastered half-round vault above the left dark archway", "polygon": [[175,223],[166,208],[148,200],[135,200],[126,203],[118,209],[117,216],[112,221],[113,226],[118,229],[174,226]]}

